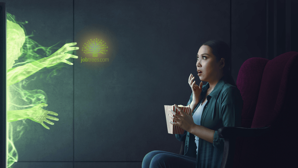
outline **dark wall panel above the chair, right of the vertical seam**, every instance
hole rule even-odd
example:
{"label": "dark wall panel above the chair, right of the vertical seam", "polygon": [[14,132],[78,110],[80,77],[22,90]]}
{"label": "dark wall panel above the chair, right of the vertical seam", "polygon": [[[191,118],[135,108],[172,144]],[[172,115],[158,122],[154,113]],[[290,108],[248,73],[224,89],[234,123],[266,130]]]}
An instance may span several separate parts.
{"label": "dark wall panel above the chair, right of the vertical seam", "polygon": [[244,61],[266,58],[266,1],[232,1],[231,21],[232,76],[236,82]]}

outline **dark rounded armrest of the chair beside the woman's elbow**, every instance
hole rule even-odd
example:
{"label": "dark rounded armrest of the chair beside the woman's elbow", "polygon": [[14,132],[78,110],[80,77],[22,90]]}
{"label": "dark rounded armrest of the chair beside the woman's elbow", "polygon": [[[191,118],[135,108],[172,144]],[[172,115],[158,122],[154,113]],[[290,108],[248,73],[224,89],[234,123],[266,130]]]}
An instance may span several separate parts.
{"label": "dark rounded armrest of the chair beside the woman's elbow", "polygon": [[236,137],[266,136],[271,133],[271,127],[242,128],[242,127],[221,127],[218,129],[218,136],[224,139]]}

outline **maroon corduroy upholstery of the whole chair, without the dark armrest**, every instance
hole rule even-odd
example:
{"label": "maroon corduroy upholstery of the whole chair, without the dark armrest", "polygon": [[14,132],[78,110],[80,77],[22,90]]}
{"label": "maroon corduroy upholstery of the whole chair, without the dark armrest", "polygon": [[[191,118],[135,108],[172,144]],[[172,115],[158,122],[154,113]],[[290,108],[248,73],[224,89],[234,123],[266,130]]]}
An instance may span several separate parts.
{"label": "maroon corduroy upholstery of the whole chair, without the dark armrest", "polygon": [[271,133],[237,137],[233,167],[298,167],[298,52],[246,60],[236,85],[243,98],[242,127],[270,127]]}

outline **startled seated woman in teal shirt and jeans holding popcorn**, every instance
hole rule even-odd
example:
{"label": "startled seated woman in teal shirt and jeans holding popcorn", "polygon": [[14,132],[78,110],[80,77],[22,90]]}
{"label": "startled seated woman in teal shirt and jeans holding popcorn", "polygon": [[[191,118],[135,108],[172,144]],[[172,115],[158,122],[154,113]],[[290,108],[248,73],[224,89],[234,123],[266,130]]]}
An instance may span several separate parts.
{"label": "startled seated woman in teal shirt and jeans holding popcorn", "polygon": [[201,82],[195,84],[190,74],[188,83],[193,91],[187,106],[192,115],[181,115],[171,122],[183,128],[184,134],[176,134],[179,141],[185,141],[184,155],[164,151],[152,151],[145,155],[142,168],[156,167],[221,167],[224,139],[218,137],[221,127],[240,127],[243,100],[240,91],[230,74],[231,50],[219,40],[210,40],[202,44],[197,54],[197,71]]}

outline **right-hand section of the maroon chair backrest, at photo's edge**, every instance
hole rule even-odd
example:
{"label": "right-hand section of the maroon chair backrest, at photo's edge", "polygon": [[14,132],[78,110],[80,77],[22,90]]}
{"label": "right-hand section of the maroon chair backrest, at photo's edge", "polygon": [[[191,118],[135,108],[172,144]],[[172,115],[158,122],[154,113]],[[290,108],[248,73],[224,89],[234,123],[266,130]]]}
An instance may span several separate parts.
{"label": "right-hand section of the maroon chair backrest, at photo's edge", "polygon": [[[277,126],[277,116],[280,116],[280,113],[283,113],[281,115],[288,113],[281,110],[285,101],[292,101],[291,97],[285,97],[286,92],[294,91],[297,87],[291,88],[288,85],[298,81],[298,71],[294,70],[296,68],[294,66],[298,66],[298,52],[287,52],[267,62],[262,76],[252,128]],[[296,92],[296,94],[298,93]],[[297,109],[292,110],[297,111]]]}

